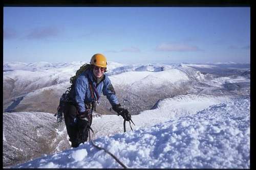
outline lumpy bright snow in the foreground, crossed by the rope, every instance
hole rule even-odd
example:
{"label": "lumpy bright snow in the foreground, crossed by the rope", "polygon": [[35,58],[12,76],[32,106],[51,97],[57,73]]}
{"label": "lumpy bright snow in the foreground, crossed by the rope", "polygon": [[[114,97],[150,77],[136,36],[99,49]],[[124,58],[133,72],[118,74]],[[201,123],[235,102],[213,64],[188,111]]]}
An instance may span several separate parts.
{"label": "lumpy bright snow in the foreground, crossed by the rope", "polygon": [[[249,168],[249,112],[249,97],[240,97],[149,128],[100,137],[95,143],[130,168]],[[164,114],[169,113],[165,110]],[[110,155],[94,148],[90,142],[15,166],[120,167]]]}

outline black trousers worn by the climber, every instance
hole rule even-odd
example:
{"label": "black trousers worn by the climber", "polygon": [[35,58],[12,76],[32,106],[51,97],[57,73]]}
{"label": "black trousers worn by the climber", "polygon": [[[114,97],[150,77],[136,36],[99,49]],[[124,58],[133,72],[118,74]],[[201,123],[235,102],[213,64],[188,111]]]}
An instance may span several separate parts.
{"label": "black trousers worn by the climber", "polygon": [[88,121],[77,117],[77,108],[74,104],[67,102],[64,109],[64,119],[71,141],[71,147],[76,148],[80,143],[87,141],[92,124],[92,115],[88,115]]}

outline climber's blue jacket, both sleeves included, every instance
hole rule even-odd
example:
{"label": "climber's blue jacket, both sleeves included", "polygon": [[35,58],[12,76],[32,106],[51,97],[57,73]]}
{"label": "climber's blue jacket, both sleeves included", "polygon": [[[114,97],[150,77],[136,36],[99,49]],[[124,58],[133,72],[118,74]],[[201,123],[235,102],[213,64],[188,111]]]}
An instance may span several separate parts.
{"label": "climber's blue jacket, both sleeves included", "polygon": [[99,98],[100,98],[101,92],[103,92],[103,95],[106,95],[106,98],[109,100],[112,106],[119,104],[110,79],[106,75],[103,75],[103,76],[104,78],[97,85],[97,87],[96,87],[96,82],[93,79],[93,72],[91,69],[83,71],[77,77],[73,88],[71,88],[70,97],[71,97],[71,100],[73,100],[77,104],[79,112],[86,111],[86,106],[84,102],[93,102],[88,79],[90,79],[91,82],[93,82],[93,85],[95,86],[99,94]]}

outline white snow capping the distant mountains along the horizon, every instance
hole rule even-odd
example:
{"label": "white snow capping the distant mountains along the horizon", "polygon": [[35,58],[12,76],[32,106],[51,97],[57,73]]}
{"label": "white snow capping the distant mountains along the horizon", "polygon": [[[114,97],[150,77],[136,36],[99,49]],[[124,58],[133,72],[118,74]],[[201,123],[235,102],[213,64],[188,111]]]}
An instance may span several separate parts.
{"label": "white snow capping the distant mountains along the horizon", "polygon": [[[69,79],[74,76],[76,70],[86,62],[72,63],[4,63],[4,83],[5,88],[13,86],[12,94],[24,96],[24,100],[33,98],[44,90],[53,89],[61,93],[70,87]],[[147,88],[175,87],[181,83],[193,81],[193,79],[221,88],[226,82],[248,82],[246,77],[217,77],[208,79],[200,71],[190,67],[212,67],[206,64],[147,64],[147,65],[124,65],[116,62],[108,63],[109,78],[113,85],[130,86],[130,90],[140,90]],[[7,71],[12,70],[12,71]],[[60,94],[61,95],[61,94]],[[10,94],[8,94],[10,96]],[[10,96],[13,98],[14,96]],[[16,97],[16,96],[15,96]],[[10,104],[9,104],[10,105]],[[7,106],[5,106],[7,107]]]}

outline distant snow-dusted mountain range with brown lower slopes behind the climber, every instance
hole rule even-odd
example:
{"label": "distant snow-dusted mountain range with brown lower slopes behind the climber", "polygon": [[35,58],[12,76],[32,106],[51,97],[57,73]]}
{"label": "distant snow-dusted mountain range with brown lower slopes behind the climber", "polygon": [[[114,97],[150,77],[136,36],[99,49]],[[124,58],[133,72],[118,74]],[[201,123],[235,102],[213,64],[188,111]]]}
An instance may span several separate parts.
{"label": "distant snow-dusted mountain range with brown lower slopes behind the climber", "polygon": [[[70,87],[70,77],[84,63],[4,63],[3,111],[55,113],[61,94]],[[249,79],[249,74],[247,65],[244,68],[229,69],[205,64],[124,65],[116,62],[109,62],[106,72],[120,103],[127,101],[132,114],[152,108],[159,99],[196,93],[205,89],[205,86],[211,86],[211,90],[217,91],[216,88],[221,89],[223,86],[222,82],[218,87],[214,85],[215,82],[219,83],[217,79],[220,77],[229,79],[230,76],[241,76],[243,81]],[[106,98],[102,99],[99,109],[105,114],[114,114],[109,112],[111,106]]]}

